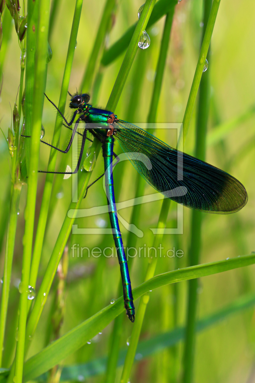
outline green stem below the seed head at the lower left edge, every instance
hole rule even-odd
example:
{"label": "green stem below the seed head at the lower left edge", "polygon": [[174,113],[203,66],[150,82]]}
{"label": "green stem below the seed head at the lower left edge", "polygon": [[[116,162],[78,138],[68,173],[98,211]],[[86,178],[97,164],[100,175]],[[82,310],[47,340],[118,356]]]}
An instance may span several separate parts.
{"label": "green stem below the seed head at the lower left edge", "polygon": [[2,366],[3,341],[5,336],[6,315],[9,301],[11,268],[13,260],[13,252],[15,245],[15,235],[18,219],[19,197],[21,192],[21,184],[15,184],[13,188],[10,215],[7,228],[6,246],[5,246],[5,265],[3,270],[3,285],[1,296],[1,313],[0,313],[0,366]]}

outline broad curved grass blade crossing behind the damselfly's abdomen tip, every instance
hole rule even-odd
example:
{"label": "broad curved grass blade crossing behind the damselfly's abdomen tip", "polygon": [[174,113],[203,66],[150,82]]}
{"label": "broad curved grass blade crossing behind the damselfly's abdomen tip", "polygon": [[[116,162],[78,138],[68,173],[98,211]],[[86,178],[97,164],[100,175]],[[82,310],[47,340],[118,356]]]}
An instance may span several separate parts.
{"label": "broad curved grass blade crossing behind the damselfly's abdomen tip", "polygon": [[[255,254],[170,271],[156,275],[133,289],[133,297],[134,300],[136,300],[141,295],[148,293],[149,290],[154,290],[170,283],[201,278],[252,264],[255,264]],[[24,364],[23,381],[26,382],[35,379],[64,358],[68,357],[68,355],[71,355],[75,350],[78,350],[86,344],[89,339],[96,336],[99,331],[102,331],[112,319],[123,311],[123,298],[121,296],[114,304],[109,304],[109,306],[105,307],[79,326],[67,332],[60,339],[47,346],[41,352],[31,357]]]}

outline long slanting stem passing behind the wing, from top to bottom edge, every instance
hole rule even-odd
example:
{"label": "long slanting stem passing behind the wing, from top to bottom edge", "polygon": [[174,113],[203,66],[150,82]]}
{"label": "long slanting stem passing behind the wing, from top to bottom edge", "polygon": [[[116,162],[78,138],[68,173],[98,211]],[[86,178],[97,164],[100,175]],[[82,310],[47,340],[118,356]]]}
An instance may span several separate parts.
{"label": "long slanting stem passing behind the wing, from top to bottom edge", "polygon": [[[182,145],[185,141],[185,138],[187,136],[188,126],[190,124],[190,119],[191,119],[193,108],[195,105],[198,87],[199,87],[201,76],[203,73],[203,67],[205,65],[205,59],[206,59],[206,56],[208,53],[208,49],[209,49],[209,45],[210,45],[210,41],[211,41],[211,36],[213,33],[213,28],[214,28],[218,8],[219,8],[219,0],[214,0],[213,7],[211,8],[208,24],[206,26],[205,35],[204,35],[203,43],[201,46],[200,55],[198,58],[198,64],[197,64],[197,68],[195,70],[195,75],[194,75],[192,87],[190,90],[190,95],[188,97],[188,102],[187,102],[186,110],[184,113],[183,126],[182,126],[182,129],[180,131],[180,135],[178,137],[177,147],[179,149],[180,149],[180,146],[182,147]],[[158,228],[159,229],[164,229],[166,227],[166,220],[167,220],[167,214],[168,214],[169,207],[170,207],[170,201],[171,200],[169,200],[168,198],[163,200],[161,212],[159,215],[159,221],[158,221]],[[161,240],[161,235],[158,235],[157,238],[154,237],[153,247],[157,248],[158,244],[160,243],[159,242],[160,240]],[[145,277],[146,279],[153,277],[154,271],[156,268],[156,263],[157,263],[156,257],[154,259],[149,260],[148,268],[146,271],[146,277]],[[145,299],[145,300],[141,300],[140,302],[141,302],[141,311],[144,314],[145,313],[145,306],[148,303],[148,301],[146,301],[146,299]],[[128,381],[129,376],[130,376],[132,363],[133,363],[133,360],[135,357],[135,350],[136,350],[136,346],[138,344],[138,336],[139,336],[140,332],[136,331],[136,327],[141,329],[141,324],[143,321],[143,316],[139,314],[139,311],[140,311],[140,304],[139,304],[138,310],[137,310],[139,321],[136,320],[136,322],[134,323],[134,326],[133,326],[133,331],[135,332],[136,336],[131,337],[130,345],[128,347],[128,352],[127,352],[127,357],[126,357],[126,360],[125,360],[125,363],[123,366],[122,378],[121,378],[121,381],[123,383],[126,383]],[[136,316],[137,316],[137,314],[136,314]]]}

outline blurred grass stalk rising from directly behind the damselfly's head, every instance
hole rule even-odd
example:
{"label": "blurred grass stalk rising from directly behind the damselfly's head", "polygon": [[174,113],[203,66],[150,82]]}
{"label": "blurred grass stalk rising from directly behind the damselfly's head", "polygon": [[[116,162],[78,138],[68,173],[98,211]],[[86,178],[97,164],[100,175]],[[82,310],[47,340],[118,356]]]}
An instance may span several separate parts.
{"label": "blurred grass stalk rising from directly behind the damselfly's head", "polygon": [[97,29],[97,35],[94,42],[94,46],[89,56],[88,64],[83,75],[81,88],[83,88],[84,91],[88,91],[92,86],[94,73],[96,70],[96,63],[98,61],[97,58],[99,56],[99,52],[106,37],[106,33],[109,29],[109,24],[112,22],[111,16],[115,6],[116,0],[106,0],[99,28]]}

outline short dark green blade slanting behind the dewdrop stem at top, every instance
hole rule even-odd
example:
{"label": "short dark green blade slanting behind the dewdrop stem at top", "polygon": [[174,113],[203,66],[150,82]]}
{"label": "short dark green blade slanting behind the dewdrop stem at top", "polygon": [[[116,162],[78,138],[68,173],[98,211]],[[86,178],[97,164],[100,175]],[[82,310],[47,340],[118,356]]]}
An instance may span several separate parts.
{"label": "short dark green blade slanting behind the dewdrop stem at top", "polygon": [[[176,4],[177,0],[159,0],[153,8],[147,24],[147,28],[151,27],[161,17],[166,15],[172,8],[175,7]],[[136,25],[137,23],[133,24],[127,30],[127,32],[119,40],[116,41],[116,43],[112,44],[112,46],[104,52],[101,60],[102,65],[107,66],[111,64],[125,51],[125,49],[127,49],[135,31]]]}

